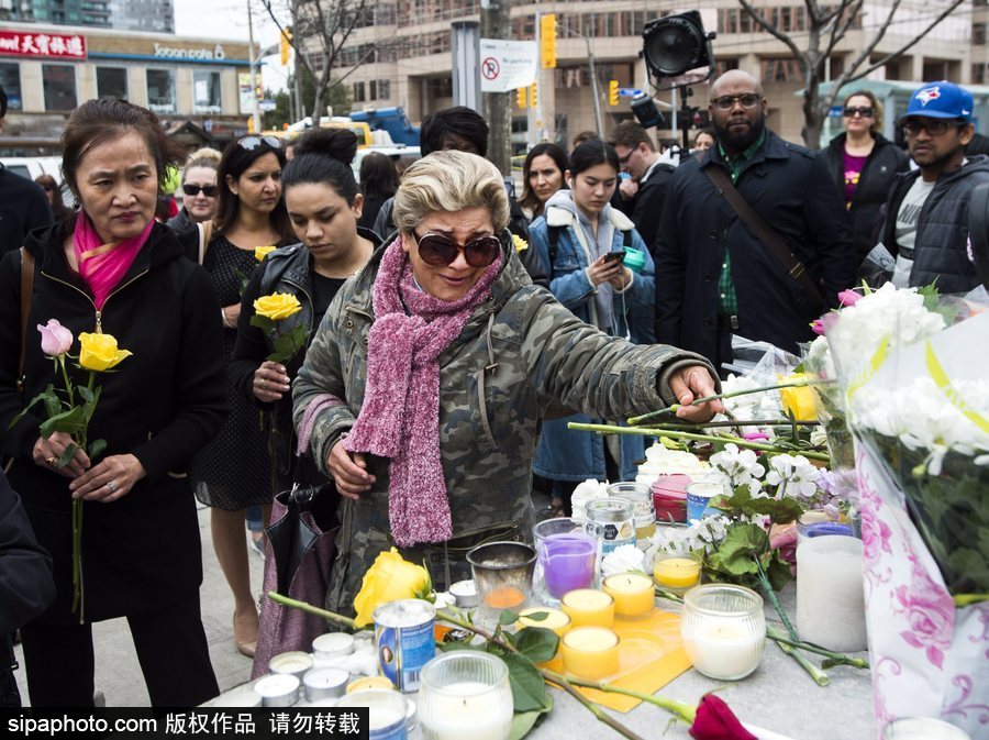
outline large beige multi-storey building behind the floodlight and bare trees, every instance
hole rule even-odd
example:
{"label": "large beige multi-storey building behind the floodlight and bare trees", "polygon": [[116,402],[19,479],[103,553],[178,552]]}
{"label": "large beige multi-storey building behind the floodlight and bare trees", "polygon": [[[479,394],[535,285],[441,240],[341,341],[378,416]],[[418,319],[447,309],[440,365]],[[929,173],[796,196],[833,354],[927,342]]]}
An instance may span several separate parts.
{"label": "large beige multi-storey building behind the floodlight and bare trees", "polygon": [[[870,60],[878,62],[914,38],[945,2],[904,0]],[[942,78],[960,84],[981,81],[975,69],[979,64],[982,70],[979,74],[985,75],[987,69],[985,18],[984,45],[978,52],[974,51],[973,35],[977,27],[974,19],[986,14],[986,3],[987,0],[967,0],[903,56],[870,77],[918,82]],[[790,34],[798,44],[807,38],[807,12],[801,0],[759,0],[755,4],[767,22]],[[890,0],[866,2],[860,18],[830,59],[832,77],[840,75],[865,48],[889,5]],[[538,4],[515,0],[511,8],[515,40],[534,38],[537,11],[557,16],[557,66],[538,74],[543,113],[538,129],[562,143],[568,143],[579,131],[594,129],[589,52],[597,62],[605,134],[620,121],[632,118],[627,100],[609,104],[609,80],[618,80],[621,87],[651,89],[640,58],[643,26],[655,18],[693,8],[696,3],[682,0],[569,0]],[[451,22],[478,20],[479,13],[478,0],[378,2],[374,16],[349,36],[337,58],[338,70],[334,77],[347,76],[354,108],[402,106],[411,119],[421,120],[426,113],[453,103]],[[704,3],[701,14],[705,30],[718,33],[713,43],[718,69],[741,68],[757,76],[770,106],[768,124],[786,139],[800,141],[803,115],[798,91],[802,80],[799,65],[787,46],[755,27],[737,0],[711,0]],[[707,85],[694,86],[692,91],[691,104],[704,108],[709,97]],[[670,93],[664,92],[658,98],[670,100]],[[521,145],[533,118],[519,108],[513,115],[514,139]],[[840,119],[833,125],[836,132]],[[670,133],[660,132],[660,135]]]}

